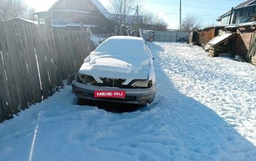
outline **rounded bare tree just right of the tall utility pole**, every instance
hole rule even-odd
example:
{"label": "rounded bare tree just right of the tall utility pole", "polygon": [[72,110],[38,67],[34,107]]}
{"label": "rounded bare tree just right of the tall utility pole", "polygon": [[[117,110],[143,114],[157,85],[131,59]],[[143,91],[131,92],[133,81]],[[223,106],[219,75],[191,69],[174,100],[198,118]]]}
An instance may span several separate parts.
{"label": "rounded bare tree just right of the tall utility pole", "polygon": [[195,27],[202,27],[202,20],[193,15],[187,15],[181,22],[181,31],[192,31]]}

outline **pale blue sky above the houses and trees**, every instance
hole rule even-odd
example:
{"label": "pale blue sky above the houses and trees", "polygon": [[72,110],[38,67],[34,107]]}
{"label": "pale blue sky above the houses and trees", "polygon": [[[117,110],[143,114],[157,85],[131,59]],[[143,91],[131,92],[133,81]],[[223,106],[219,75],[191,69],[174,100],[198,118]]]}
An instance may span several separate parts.
{"label": "pale blue sky above the houses and trees", "polygon": [[[35,8],[36,11],[47,11],[57,0],[24,0],[29,7]],[[99,0],[102,4],[107,5],[107,0]],[[245,0],[244,0],[245,1]],[[203,26],[216,24],[216,19],[223,13],[244,2],[243,0],[181,0],[181,17],[194,15],[202,20]],[[158,14],[167,23],[170,29],[179,28],[180,19],[180,1],[168,0],[143,0],[143,10]],[[139,11],[140,13],[140,11]]]}

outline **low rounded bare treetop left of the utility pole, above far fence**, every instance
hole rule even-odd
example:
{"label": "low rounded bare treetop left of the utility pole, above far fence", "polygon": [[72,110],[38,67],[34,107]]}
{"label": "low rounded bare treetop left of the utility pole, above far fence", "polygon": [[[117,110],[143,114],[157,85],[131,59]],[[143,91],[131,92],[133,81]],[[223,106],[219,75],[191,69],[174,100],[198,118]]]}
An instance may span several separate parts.
{"label": "low rounded bare treetop left of the utility pole, above far fence", "polygon": [[143,29],[165,31],[168,24],[154,13],[143,14]]}

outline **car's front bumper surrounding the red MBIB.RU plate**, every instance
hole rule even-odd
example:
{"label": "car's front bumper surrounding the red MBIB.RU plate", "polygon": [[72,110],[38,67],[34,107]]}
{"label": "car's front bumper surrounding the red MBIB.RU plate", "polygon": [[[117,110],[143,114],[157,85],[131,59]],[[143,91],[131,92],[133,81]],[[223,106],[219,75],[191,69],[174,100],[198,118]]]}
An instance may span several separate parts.
{"label": "car's front bumper surrounding the red MBIB.RU plate", "polygon": [[[94,91],[96,90],[125,90],[125,98],[95,98]],[[100,100],[108,102],[131,103],[131,104],[147,104],[151,103],[156,97],[156,84],[147,89],[121,89],[109,88],[93,85],[80,84],[79,82],[72,82],[72,91],[78,98]]]}

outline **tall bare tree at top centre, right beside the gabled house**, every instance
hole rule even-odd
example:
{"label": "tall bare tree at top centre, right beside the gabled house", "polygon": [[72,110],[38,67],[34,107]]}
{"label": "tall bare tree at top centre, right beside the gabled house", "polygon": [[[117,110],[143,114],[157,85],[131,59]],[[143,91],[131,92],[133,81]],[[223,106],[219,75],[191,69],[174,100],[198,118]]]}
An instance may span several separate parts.
{"label": "tall bare tree at top centre, right beside the gabled house", "polygon": [[139,8],[141,0],[109,0],[108,10],[113,13],[112,19],[117,25],[126,25],[127,21],[134,19],[137,6]]}

